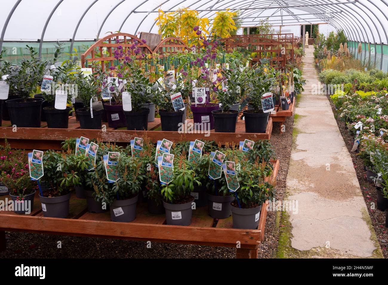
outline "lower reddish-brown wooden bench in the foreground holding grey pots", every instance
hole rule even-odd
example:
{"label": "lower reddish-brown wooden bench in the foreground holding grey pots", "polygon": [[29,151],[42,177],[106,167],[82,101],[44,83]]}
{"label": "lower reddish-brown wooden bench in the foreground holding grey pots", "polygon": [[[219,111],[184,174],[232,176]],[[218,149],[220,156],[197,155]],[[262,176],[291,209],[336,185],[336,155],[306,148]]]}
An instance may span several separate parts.
{"label": "lower reddish-brown wooden bench in the foreground holding grey pots", "polygon": [[[272,161],[276,177],[279,160]],[[5,200],[9,196],[0,196]],[[197,244],[223,247],[237,247],[237,258],[257,258],[258,246],[264,240],[267,206],[262,207],[257,230],[232,228],[232,216],[215,220],[208,214],[207,207],[193,211],[190,226],[166,225],[165,214],[154,215],[147,211],[146,203],[137,204],[136,219],[130,223],[112,222],[110,213],[90,213],[86,200],[78,199],[73,193],[70,199],[70,214],[66,219],[45,218],[38,194],[34,210],[28,214],[0,212],[0,250],[5,250],[5,231],[47,233],[82,237],[117,238],[125,240]]]}

